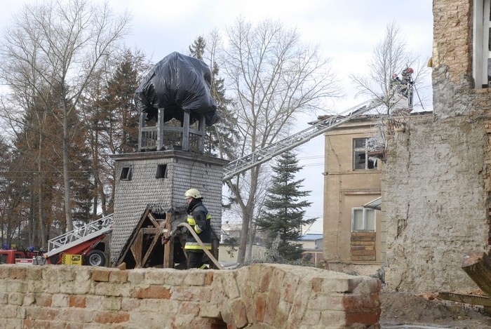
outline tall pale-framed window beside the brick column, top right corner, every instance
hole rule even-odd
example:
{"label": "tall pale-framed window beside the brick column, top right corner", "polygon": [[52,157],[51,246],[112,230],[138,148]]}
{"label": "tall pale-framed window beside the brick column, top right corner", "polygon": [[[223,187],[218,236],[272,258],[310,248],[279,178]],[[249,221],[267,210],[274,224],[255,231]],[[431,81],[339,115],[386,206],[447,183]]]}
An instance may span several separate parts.
{"label": "tall pale-framed window beside the brick column, top right corner", "polygon": [[475,87],[488,88],[491,80],[491,0],[473,1],[472,75]]}

